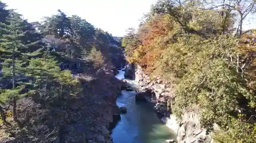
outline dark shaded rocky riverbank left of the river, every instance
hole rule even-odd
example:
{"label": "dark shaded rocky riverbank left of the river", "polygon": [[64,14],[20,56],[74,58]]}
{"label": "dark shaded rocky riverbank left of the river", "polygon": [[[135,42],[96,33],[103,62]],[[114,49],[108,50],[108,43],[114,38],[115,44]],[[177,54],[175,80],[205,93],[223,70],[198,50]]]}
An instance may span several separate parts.
{"label": "dark shaded rocky riverbank left of the river", "polygon": [[[113,142],[110,130],[114,118],[120,115],[116,97],[122,86],[122,81],[114,75],[112,69],[80,74],[82,92],[62,101],[20,99],[17,103],[27,104],[18,104],[18,108],[24,108],[31,115],[30,122],[17,129],[15,136],[4,131],[2,125],[5,134],[1,134],[1,142]],[[19,117],[24,116],[23,113],[20,112]]]}

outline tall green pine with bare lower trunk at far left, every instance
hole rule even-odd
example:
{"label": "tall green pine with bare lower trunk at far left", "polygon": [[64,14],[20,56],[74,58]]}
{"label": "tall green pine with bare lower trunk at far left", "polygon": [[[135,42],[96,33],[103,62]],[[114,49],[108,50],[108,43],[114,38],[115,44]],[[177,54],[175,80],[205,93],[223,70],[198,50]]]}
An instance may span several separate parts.
{"label": "tall green pine with bare lower trunk at far left", "polygon": [[[0,51],[2,52],[3,75],[5,78],[11,78],[11,89],[5,89],[2,96],[11,98],[13,106],[13,119],[18,121],[16,100],[20,97],[26,96],[28,93],[24,92],[28,77],[26,77],[26,66],[30,56],[36,56],[37,51],[32,51],[31,46],[36,40],[28,39],[29,33],[28,23],[20,18],[17,13],[10,13],[6,17],[6,22],[1,23],[1,31],[4,32],[0,41]],[[29,42],[28,42],[29,41]],[[33,42],[32,42],[33,41]]]}

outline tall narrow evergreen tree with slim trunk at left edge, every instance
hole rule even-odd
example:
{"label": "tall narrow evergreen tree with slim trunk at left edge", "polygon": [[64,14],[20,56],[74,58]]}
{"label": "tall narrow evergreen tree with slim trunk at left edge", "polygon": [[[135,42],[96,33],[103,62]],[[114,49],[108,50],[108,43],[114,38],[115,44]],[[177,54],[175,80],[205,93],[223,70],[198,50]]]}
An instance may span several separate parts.
{"label": "tall narrow evergreen tree with slim trunk at left edge", "polygon": [[11,15],[6,20],[9,24],[1,24],[1,28],[6,33],[1,39],[1,51],[3,51],[5,61],[3,65],[3,73],[6,77],[12,78],[12,89],[7,89],[4,91],[5,95],[9,98],[12,98],[13,105],[13,119],[18,122],[17,109],[16,109],[16,100],[17,98],[24,96],[19,95],[19,92],[22,91],[24,86],[17,86],[18,75],[23,74],[21,72],[22,66],[25,64],[27,56],[25,53],[20,52],[26,46],[20,41],[21,37],[24,35],[22,31],[22,25],[24,20],[20,19],[20,15],[17,13],[11,13]]}

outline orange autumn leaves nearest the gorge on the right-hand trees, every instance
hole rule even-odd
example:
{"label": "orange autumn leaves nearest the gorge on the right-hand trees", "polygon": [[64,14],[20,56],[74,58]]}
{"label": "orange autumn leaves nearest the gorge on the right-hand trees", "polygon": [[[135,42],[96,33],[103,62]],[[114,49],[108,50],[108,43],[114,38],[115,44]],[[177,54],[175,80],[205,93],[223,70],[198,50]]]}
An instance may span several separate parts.
{"label": "orange autumn leaves nearest the gorge on the right-hand trees", "polygon": [[174,21],[168,15],[156,15],[143,23],[137,33],[137,38],[141,45],[137,45],[133,50],[133,61],[139,65],[146,67],[148,72],[154,70],[155,62],[165,47],[164,37],[168,37],[169,33],[175,27]]}

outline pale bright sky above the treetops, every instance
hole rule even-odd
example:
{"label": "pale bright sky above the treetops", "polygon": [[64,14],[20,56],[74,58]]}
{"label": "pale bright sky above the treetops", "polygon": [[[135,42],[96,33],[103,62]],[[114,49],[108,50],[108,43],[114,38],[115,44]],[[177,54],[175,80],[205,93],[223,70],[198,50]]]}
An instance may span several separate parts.
{"label": "pale bright sky above the treetops", "polygon": [[[1,1],[1,0],[0,0]],[[123,36],[129,27],[138,27],[139,19],[157,0],[2,0],[25,19],[40,21],[43,16],[55,14],[57,9],[68,16],[79,15],[95,27]],[[62,2],[62,3],[61,3]],[[256,28],[256,21],[245,21],[244,30]]]}

